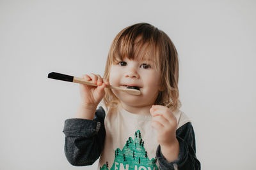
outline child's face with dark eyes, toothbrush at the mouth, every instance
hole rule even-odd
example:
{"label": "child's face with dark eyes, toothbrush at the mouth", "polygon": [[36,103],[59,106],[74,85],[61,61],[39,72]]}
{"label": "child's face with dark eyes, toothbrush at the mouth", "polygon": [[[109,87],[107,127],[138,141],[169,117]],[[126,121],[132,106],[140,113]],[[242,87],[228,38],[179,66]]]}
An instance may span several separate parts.
{"label": "child's face with dark eyes, toothbrush at the mouth", "polygon": [[111,65],[109,83],[116,87],[140,87],[140,96],[113,90],[122,104],[129,106],[150,106],[155,103],[159,92],[160,70],[153,60],[118,60]]}

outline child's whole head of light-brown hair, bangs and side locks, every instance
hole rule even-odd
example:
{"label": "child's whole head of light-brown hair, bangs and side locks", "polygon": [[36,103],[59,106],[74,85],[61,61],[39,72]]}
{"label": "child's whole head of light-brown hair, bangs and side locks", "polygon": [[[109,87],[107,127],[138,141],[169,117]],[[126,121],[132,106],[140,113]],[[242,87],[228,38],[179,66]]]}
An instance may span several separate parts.
{"label": "child's whole head of light-brown hair, bangs and side locks", "polygon": [[[159,90],[155,104],[167,106],[173,111],[179,109],[181,103],[178,89],[179,60],[177,50],[168,35],[153,25],[134,24],[116,35],[109,49],[104,79],[109,80],[110,67],[116,59],[122,60],[125,57],[135,59],[138,52],[143,52],[144,56],[153,52],[154,55],[150,56],[154,56],[155,64],[161,71],[161,90]],[[115,107],[118,104],[118,98],[110,89],[106,89],[103,102],[107,108]]]}

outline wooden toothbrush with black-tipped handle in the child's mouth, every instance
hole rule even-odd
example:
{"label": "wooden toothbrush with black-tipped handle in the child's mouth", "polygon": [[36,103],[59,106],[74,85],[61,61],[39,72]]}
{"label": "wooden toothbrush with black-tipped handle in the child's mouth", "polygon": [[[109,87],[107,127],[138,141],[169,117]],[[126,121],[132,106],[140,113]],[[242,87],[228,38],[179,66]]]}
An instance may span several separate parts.
{"label": "wooden toothbrush with black-tipped handle in the child's mouth", "polygon": [[[83,78],[79,78],[79,77],[75,77],[75,76],[68,76],[66,74],[61,74],[61,73],[56,73],[56,72],[49,73],[48,78],[53,78],[56,80],[63,80],[63,81],[70,81],[73,83],[80,83],[80,84],[84,84],[84,85],[97,86],[94,83],[92,83],[92,81],[86,81]],[[122,92],[127,92],[128,94],[132,94],[132,95],[140,95],[140,90],[138,90],[138,89],[128,89],[128,87],[127,87],[127,89],[123,89],[123,88],[115,87],[112,85],[108,85],[106,88],[119,90]]]}

